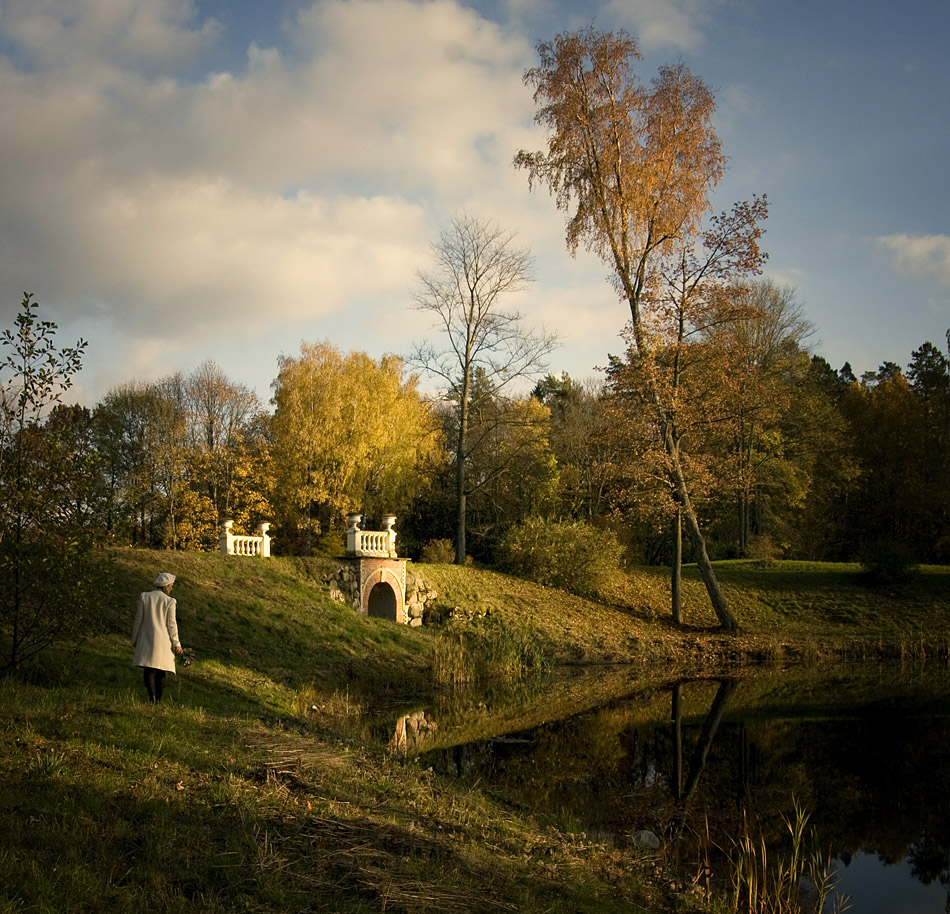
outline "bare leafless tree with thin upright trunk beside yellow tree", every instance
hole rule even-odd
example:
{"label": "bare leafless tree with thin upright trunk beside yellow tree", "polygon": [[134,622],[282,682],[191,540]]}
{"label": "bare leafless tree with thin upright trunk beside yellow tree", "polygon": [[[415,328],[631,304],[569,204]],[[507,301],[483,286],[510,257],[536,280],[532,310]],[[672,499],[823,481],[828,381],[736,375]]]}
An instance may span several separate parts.
{"label": "bare leafless tree with thin upright trunk beside yellow tree", "polygon": [[519,312],[501,306],[506,295],[533,279],[533,258],[515,245],[514,235],[461,213],[432,245],[432,258],[432,270],[418,274],[414,299],[420,311],[433,315],[440,338],[437,344],[417,344],[412,362],[439,378],[454,409],[455,561],[462,564],[466,498],[471,494],[466,464],[481,440],[468,437],[475,398],[503,398],[512,382],[542,372],[557,337],[526,327]]}

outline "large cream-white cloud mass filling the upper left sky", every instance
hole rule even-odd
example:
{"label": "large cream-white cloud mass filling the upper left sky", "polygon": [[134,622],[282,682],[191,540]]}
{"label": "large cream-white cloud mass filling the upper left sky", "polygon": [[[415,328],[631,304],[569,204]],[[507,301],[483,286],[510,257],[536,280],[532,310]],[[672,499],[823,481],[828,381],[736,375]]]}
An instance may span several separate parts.
{"label": "large cream-white cloud mass filling the upper left sky", "polygon": [[0,317],[35,291],[133,366],[373,302],[392,326],[440,223],[527,196],[533,51],[472,10],[317,2],[292,46],[184,79],[216,33],[189,0],[4,8]]}

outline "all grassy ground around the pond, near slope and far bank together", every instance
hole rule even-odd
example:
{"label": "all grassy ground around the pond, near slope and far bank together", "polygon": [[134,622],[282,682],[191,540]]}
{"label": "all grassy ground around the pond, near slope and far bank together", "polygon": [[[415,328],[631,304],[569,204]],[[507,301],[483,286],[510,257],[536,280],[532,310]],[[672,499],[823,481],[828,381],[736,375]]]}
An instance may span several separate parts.
{"label": "all grassy ground around the pond, near slope and far bank together", "polygon": [[[136,594],[178,575],[197,662],[144,702],[130,667]],[[0,914],[157,911],[654,911],[676,893],[649,857],[602,846],[405,763],[368,738],[370,706],[428,699],[462,628],[535,645],[549,664],[633,674],[750,660],[945,650],[950,575],[870,591],[856,569],[720,566],[743,623],[717,633],[687,582],[685,633],[665,580],[639,571],[604,603],[477,569],[417,569],[442,614],[410,629],[333,602],[324,560],[117,552],[104,631],[0,680]],[[671,666],[671,662],[673,666]],[[675,669],[673,668],[675,667]],[[602,674],[602,675],[601,675]],[[621,688],[553,693],[565,707]],[[626,677],[626,678],[625,678]],[[551,713],[546,695],[536,712]],[[530,701],[527,706],[532,707]]]}

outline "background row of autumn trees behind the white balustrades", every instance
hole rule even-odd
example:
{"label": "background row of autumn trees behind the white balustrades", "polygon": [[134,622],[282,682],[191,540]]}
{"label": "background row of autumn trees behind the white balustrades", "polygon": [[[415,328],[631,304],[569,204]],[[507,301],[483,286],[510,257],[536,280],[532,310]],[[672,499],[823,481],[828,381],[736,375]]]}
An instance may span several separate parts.
{"label": "background row of autumn trees behind the white balustrades", "polygon": [[[688,349],[656,356],[680,362],[679,454],[710,557],[950,561],[950,338],[857,378],[811,352],[790,289],[755,280],[736,296]],[[492,561],[538,517],[672,564],[681,506],[645,369],[633,347],[608,361],[596,379],[547,373],[520,393],[472,373],[466,556]],[[458,396],[424,394],[401,358],[304,344],[280,359],[270,408],[213,362],[93,408],[31,415],[29,390],[22,375],[3,387],[5,537],[29,510],[100,541],[210,551],[223,520],[267,520],[275,551],[301,554],[339,549],[355,510],[397,514],[414,557],[456,542]]]}

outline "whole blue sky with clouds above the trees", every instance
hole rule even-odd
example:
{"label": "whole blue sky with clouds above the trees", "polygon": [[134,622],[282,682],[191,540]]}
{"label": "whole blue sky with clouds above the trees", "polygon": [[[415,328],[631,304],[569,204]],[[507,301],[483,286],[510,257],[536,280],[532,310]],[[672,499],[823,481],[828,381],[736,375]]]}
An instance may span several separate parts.
{"label": "whole blue sky with clouds above the trees", "polygon": [[215,362],[434,339],[418,271],[453,216],[515,233],[508,301],[597,376],[628,311],[512,167],[544,147],[539,41],[636,38],[714,91],[716,210],[766,194],[765,276],[855,373],[950,328],[948,0],[0,0],[0,326],[88,340],[68,402]]}

